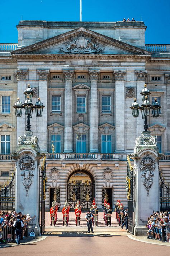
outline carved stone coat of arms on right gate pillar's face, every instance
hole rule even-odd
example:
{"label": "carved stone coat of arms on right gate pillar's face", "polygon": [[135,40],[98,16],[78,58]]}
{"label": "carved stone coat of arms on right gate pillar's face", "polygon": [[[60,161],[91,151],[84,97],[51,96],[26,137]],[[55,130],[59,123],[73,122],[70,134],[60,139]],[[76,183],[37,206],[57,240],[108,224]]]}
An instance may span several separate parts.
{"label": "carved stone coat of arms on right gate pillar's face", "polygon": [[140,162],[142,182],[143,185],[145,186],[147,196],[149,195],[149,190],[153,184],[155,168],[156,163],[149,155],[143,158],[143,160]]}

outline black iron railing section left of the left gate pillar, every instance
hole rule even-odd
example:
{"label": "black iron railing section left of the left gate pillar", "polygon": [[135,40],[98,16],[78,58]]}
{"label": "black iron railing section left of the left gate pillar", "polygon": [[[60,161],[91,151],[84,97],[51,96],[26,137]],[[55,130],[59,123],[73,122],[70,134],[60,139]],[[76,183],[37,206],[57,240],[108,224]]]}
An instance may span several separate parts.
{"label": "black iron railing section left of the left gate pillar", "polygon": [[14,211],[15,210],[15,172],[12,173],[10,182],[0,186],[0,211]]}

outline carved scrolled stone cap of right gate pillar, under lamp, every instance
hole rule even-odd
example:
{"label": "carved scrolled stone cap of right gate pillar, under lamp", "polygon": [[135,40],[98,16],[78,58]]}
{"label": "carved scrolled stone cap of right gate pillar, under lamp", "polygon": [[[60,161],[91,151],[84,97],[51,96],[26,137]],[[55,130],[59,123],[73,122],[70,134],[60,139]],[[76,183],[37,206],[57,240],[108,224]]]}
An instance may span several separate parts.
{"label": "carved scrolled stone cap of right gate pillar, under lamp", "polygon": [[142,136],[136,138],[136,146],[154,145],[156,146],[156,137],[150,136],[150,132],[142,132]]}

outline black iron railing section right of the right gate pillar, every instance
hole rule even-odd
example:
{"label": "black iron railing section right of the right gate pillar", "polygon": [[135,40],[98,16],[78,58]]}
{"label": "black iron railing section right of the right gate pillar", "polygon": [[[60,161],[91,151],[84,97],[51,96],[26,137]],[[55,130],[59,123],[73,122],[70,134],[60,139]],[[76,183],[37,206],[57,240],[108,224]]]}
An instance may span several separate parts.
{"label": "black iron railing section right of the right gate pillar", "polygon": [[160,175],[160,211],[170,211],[170,188]]}

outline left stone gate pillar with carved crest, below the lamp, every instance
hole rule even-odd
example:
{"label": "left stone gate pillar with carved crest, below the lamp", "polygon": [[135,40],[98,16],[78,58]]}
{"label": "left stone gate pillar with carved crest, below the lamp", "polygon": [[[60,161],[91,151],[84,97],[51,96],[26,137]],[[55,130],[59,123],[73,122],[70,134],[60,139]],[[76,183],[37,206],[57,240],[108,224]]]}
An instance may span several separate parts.
{"label": "left stone gate pillar with carved crest, below the lamp", "polygon": [[16,186],[15,186],[15,210],[29,213],[34,217],[29,222],[29,232],[34,229],[36,235],[40,234],[39,226],[39,168],[40,149],[38,138],[33,132],[24,132],[24,136],[18,137],[18,146],[12,156],[16,159]]}

